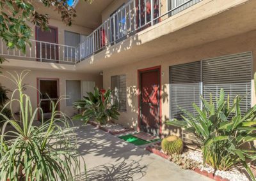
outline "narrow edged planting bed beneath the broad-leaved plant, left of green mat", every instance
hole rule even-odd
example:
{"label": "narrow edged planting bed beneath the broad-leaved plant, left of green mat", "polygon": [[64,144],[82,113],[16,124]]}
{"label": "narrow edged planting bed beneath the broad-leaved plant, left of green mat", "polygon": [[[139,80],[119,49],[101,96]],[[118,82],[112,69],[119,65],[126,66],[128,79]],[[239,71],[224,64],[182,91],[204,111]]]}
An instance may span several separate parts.
{"label": "narrow edged planting bed beneath the broad-leaved plant, left of green mat", "polygon": [[132,129],[123,127],[120,124],[116,124],[114,122],[108,122],[106,125],[100,125],[95,121],[90,121],[89,123],[92,124],[92,126],[98,127],[99,129],[102,129],[103,131],[106,131],[112,135],[125,133],[127,131],[132,131]]}

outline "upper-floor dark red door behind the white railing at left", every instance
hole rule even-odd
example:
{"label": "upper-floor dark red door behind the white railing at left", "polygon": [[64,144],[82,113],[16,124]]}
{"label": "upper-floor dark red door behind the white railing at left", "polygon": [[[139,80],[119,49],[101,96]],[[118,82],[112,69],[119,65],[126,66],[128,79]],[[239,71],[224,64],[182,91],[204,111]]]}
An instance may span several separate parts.
{"label": "upper-floor dark red door behind the white railing at left", "polygon": [[[49,31],[42,31],[36,27],[36,58],[37,61],[56,62],[58,60],[58,29],[49,27]],[[42,48],[42,51],[41,51]]]}

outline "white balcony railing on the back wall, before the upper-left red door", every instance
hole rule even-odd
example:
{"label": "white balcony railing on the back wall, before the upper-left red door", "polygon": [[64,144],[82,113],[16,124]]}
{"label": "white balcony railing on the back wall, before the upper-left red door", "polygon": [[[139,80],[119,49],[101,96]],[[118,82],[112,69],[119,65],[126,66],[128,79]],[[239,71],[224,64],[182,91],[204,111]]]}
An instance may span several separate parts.
{"label": "white balcony railing on the back wall, before the upper-left red door", "polygon": [[3,40],[0,40],[0,55],[9,59],[24,59],[29,61],[54,62],[76,64],[77,49],[67,45],[30,40],[31,46],[26,46],[23,53],[17,49],[9,49]]}

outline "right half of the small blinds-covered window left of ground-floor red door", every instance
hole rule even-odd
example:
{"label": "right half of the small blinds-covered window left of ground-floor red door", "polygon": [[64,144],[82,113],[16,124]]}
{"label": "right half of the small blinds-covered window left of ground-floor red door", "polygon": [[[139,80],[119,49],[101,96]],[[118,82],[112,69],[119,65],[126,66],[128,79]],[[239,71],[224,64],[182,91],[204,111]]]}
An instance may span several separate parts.
{"label": "right half of the small blinds-covered window left of ground-floor red door", "polygon": [[119,110],[126,112],[126,75],[118,75]]}

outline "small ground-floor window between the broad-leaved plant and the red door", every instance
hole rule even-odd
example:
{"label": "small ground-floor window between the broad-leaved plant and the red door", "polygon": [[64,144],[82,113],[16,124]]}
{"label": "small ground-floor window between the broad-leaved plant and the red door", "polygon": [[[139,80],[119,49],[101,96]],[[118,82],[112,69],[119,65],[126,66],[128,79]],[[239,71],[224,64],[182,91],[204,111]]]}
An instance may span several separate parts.
{"label": "small ground-floor window between the broad-leaved plant and the red door", "polygon": [[126,75],[111,76],[112,103],[126,112]]}

